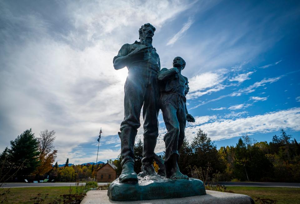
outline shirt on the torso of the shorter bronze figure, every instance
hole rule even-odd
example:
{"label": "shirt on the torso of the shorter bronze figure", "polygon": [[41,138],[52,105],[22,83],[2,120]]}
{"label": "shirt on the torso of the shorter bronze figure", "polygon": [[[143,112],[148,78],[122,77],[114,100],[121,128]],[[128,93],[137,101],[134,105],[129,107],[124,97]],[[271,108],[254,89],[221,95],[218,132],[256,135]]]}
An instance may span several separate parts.
{"label": "shirt on the torso of the shorter bronze figure", "polygon": [[[167,68],[163,68],[161,72],[168,71]],[[188,81],[187,77],[177,74],[163,80],[160,83],[160,90],[162,93],[177,93],[183,97],[187,94]]]}

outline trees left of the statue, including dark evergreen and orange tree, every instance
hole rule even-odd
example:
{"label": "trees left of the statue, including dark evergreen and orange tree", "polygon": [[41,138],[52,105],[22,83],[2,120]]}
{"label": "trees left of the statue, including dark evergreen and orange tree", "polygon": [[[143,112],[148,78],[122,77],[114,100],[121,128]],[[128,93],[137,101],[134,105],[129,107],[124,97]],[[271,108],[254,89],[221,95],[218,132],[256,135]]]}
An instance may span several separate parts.
{"label": "trees left of the statue, including dark evergreen and orange tree", "polygon": [[[88,181],[93,180],[96,169],[101,165],[72,165],[69,159],[62,167],[56,162],[53,165],[57,150],[53,143],[55,131],[43,130],[39,137],[35,137],[32,130],[25,130],[15,140],[10,141],[10,148],[6,147],[0,154],[0,183],[7,181],[49,180],[54,181]],[[111,161],[113,162],[113,161]]]}

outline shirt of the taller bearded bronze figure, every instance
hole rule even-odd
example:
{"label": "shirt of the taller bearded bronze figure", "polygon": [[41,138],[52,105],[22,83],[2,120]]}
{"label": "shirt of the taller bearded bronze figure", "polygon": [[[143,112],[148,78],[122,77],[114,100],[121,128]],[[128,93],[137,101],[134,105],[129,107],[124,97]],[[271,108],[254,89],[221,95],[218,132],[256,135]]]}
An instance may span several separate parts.
{"label": "shirt of the taller bearded bronze figure", "polygon": [[[123,57],[133,52],[138,47],[144,47],[142,43],[135,41],[133,44],[124,44],[122,48],[119,50],[117,56],[114,57],[114,60],[118,57]],[[127,65],[129,72],[137,71],[148,71],[152,70],[155,72],[159,72],[160,70],[160,60],[159,55],[156,52],[156,49],[151,47],[148,48],[148,52],[145,54],[144,58],[141,60],[134,60],[129,62]]]}

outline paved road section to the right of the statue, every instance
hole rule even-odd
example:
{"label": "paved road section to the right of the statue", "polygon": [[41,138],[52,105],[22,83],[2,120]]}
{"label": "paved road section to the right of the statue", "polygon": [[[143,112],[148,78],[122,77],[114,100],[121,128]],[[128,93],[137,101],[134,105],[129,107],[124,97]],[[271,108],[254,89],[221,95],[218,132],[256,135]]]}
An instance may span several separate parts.
{"label": "paved road section to the right of the statue", "polygon": [[224,186],[264,186],[264,187],[292,187],[300,188],[300,183],[279,183],[279,182],[216,182]]}

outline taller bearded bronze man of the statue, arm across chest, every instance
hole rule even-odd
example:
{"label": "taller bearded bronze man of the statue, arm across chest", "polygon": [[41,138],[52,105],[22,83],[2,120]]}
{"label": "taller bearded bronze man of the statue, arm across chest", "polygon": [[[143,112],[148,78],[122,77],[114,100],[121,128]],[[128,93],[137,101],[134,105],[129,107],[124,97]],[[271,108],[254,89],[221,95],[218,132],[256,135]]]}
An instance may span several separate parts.
{"label": "taller bearded bronze man of the statue, arm across chest", "polygon": [[143,106],[144,147],[142,171],[155,174],[152,166],[154,149],[158,137],[159,88],[157,74],[160,71],[160,60],[156,49],[152,46],[155,28],[150,23],[139,29],[140,42],[124,44],[117,56],[113,58],[116,70],[125,66],[128,76],[125,82],[124,120],[121,123],[119,137],[121,139],[122,173],[121,183],[137,183],[134,172],[134,141],[137,129],[141,126],[140,115]]}

